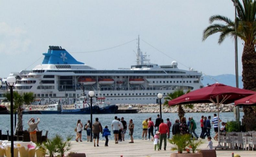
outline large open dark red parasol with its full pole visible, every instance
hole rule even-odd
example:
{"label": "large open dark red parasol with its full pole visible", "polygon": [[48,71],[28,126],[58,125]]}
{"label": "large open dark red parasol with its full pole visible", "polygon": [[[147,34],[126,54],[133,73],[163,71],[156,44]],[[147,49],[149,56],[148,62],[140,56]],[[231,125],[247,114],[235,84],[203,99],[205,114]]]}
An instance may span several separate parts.
{"label": "large open dark red parasol with its full pole visible", "polygon": [[[181,95],[176,99],[170,100],[168,102],[169,106],[179,105],[179,104],[196,104],[196,103],[214,103],[218,109],[218,119],[219,119],[219,105],[220,104],[230,104],[235,100],[244,98],[249,95],[256,94],[255,91],[240,89],[225,84],[211,84],[204,88],[194,90],[185,95]],[[218,123],[218,136],[219,136],[219,123]],[[219,139],[219,137],[218,137]],[[220,143],[216,148],[223,148]]]}

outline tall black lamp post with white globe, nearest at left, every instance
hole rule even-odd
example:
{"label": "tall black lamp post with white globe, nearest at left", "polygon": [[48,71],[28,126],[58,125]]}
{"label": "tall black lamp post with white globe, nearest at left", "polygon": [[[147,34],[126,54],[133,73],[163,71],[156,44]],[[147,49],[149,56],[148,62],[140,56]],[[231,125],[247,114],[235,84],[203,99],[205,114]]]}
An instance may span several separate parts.
{"label": "tall black lamp post with white globe, nearest at left", "polygon": [[11,157],[13,157],[13,87],[16,83],[16,78],[14,76],[7,77],[7,85],[10,87],[11,94]]}

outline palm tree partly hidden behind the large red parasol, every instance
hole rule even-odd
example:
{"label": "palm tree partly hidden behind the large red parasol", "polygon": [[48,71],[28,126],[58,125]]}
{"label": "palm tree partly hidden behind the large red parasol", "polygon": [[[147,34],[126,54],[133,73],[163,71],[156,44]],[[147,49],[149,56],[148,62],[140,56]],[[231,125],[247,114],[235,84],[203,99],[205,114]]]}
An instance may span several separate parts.
{"label": "palm tree partly hidden behind the large red parasol", "polygon": [[[177,91],[174,91],[173,93],[170,93],[167,97],[165,97],[165,102],[164,102],[164,105],[165,106],[168,106],[168,101],[172,100],[172,99],[175,99],[181,95],[184,95],[184,94],[187,94],[189,93],[190,90],[188,90],[187,92],[184,92],[183,89],[179,89]],[[185,108],[189,107],[189,108],[193,108],[193,105],[184,105]],[[184,117],[185,115],[185,111],[184,109],[182,108],[181,105],[179,105],[179,108],[178,108],[178,116],[179,118],[181,119],[182,117]]]}

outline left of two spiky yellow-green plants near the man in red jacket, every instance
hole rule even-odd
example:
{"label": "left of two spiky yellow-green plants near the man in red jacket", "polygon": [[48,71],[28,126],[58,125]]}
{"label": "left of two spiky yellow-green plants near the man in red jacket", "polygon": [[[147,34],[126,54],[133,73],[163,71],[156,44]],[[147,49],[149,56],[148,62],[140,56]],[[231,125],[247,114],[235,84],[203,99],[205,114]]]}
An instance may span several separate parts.
{"label": "left of two spiky yellow-green plants near the man in red jacket", "polygon": [[169,139],[169,142],[175,146],[172,147],[171,150],[178,151],[178,153],[182,153],[182,151],[185,151],[186,147],[189,145],[190,138],[191,138],[190,134],[185,134],[185,135],[176,134],[172,136],[172,138]]}

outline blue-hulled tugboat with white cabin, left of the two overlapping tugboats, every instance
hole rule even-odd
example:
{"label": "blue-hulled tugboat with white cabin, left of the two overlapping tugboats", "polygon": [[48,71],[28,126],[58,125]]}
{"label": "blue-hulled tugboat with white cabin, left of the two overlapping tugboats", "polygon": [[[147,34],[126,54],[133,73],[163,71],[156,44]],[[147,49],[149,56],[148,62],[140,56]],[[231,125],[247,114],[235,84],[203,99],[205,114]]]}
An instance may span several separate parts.
{"label": "blue-hulled tugboat with white cabin, left of the two overlapping tugboats", "polygon": [[[92,113],[97,114],[99,112],[98,106],[92,107]],[[75,109],[62,109],[61,114],[90,114],[90,105],[87,104],[87,98],[85,96],[76,99]]]}

